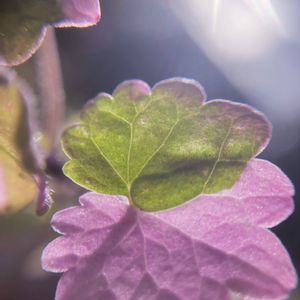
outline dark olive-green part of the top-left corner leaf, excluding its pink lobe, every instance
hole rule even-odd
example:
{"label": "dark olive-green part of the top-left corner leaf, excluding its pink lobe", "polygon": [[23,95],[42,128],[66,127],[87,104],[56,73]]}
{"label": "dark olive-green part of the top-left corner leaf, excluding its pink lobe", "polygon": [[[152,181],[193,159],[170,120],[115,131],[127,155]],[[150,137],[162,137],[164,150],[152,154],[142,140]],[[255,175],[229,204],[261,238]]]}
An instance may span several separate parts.
{"label": "dark olive-green part of the top-left corner leaf, excluding its pink lobe", "polygon": [[0,62],[18,64],[31,56],[45,34],[44,23],[58,16],[55,1],[1,1]]}

